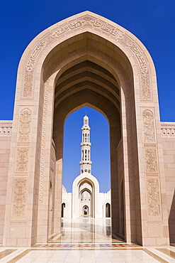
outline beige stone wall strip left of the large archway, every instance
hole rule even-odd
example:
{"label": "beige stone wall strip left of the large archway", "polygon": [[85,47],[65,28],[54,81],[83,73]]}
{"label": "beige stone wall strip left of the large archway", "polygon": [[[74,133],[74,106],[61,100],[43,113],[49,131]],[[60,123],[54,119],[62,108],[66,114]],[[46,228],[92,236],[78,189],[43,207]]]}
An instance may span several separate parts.
{"label": "beige stone wall strip left of the large archway", "polygon": [[0,243],[4,235],[6,185],[9,171],[12,121],[0,121]]}

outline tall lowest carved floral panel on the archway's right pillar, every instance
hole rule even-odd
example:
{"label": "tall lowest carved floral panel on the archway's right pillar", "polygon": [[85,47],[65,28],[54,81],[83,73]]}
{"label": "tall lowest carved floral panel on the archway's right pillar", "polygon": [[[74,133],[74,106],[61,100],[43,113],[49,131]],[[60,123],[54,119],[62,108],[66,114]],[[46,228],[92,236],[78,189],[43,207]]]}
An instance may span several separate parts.
{"label": "tall lowest carved floral panel on the archway's right pillar", "polygon": [[147,187],[147,215],[148,220],[161,217],[161,204],[159,197],[159,179],[149,178],[146,181]]}

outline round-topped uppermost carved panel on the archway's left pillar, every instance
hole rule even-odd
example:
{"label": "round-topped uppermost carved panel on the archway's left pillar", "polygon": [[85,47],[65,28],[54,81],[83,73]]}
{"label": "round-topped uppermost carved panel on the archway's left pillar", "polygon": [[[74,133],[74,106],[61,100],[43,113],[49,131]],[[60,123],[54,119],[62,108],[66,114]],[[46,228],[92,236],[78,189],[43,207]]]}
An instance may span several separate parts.
{"label": "round-topped uppermost carved panel on the archway's left pillar", "polygon": [[23,109],[20,115],[18,141],[22,143],[30,141],[30,122],[31,122],[30,109]]}

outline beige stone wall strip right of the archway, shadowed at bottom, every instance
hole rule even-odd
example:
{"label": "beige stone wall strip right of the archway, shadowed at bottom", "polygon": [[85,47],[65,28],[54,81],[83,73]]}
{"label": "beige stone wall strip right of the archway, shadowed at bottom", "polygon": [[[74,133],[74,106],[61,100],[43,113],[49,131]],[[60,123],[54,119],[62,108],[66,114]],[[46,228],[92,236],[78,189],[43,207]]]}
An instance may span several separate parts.
{"label": "beige stone wall strip right of the archway, shadowed at bottom", "polygon": [[162,144],[170,242],[175,242],[175,123],[162,122]]}

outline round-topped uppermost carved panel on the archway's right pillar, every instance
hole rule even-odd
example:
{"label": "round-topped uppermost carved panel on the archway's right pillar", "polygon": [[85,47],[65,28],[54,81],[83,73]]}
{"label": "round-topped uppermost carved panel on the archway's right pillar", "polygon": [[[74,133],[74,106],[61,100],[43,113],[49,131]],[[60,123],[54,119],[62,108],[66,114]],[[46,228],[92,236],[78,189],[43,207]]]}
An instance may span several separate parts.
{"label": "round-topped uppermost carved panel on the archway's right pillar", "polygon": [[142,113],[143,134],[145,143],[155,142],[154,114],[149,109]]}

